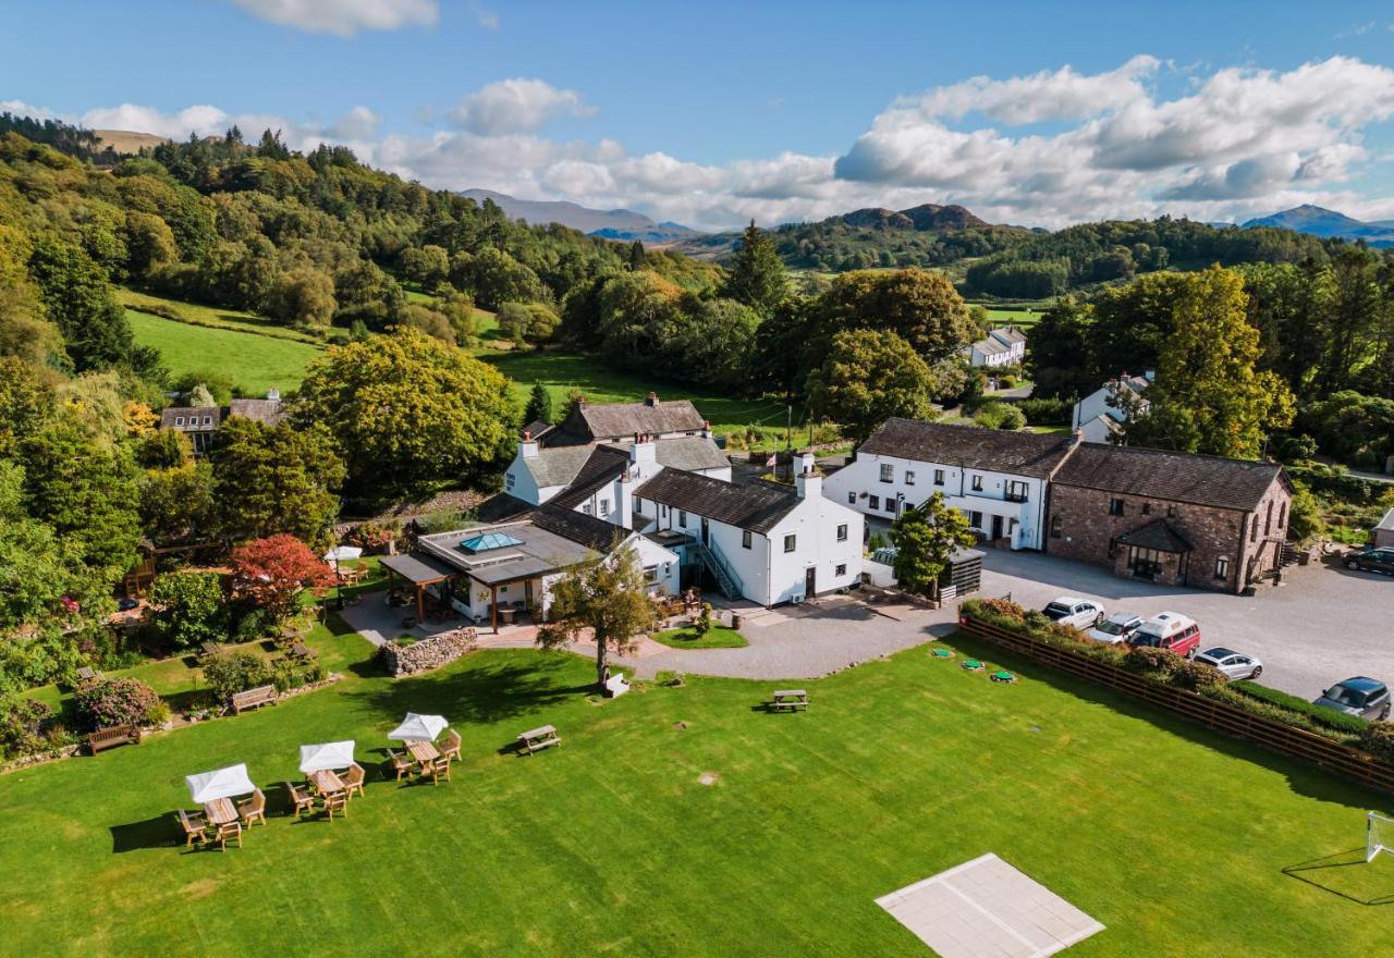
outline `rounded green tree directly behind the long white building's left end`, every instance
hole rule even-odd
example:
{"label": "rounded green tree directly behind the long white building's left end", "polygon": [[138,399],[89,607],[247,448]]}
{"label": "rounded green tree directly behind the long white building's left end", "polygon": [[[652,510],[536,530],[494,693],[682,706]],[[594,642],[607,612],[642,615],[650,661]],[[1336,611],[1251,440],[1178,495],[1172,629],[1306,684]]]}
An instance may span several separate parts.
{"label": "rounded green tree directly behind the long white building's left end", "polygon": [[891,416],[933,419],[934,373],[895,333],[848,330],[809,375],[809,408],[863,443]]}

